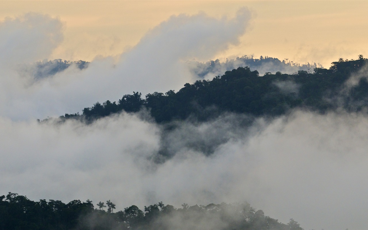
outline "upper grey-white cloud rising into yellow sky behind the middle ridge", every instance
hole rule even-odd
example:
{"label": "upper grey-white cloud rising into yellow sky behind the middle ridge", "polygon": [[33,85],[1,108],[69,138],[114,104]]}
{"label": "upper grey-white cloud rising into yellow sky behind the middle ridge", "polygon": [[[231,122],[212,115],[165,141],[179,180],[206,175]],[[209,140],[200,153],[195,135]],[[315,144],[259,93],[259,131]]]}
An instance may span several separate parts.
{"label": "upper grey-white cloud rising into yellow sky behind the middle ridge", "polygon": [[235,18],[215,19],[204,13],[172,16],[149,31],[117,63],[96,59],[83,71],[59,72],[32,82],[19,63],[47,58],[62,40],[62,23],[39,14],[7,19],[0,24],[0,116],[13,120],[75,113],[97,101],[118,100],[133,91],[178,90],[193,78],[185,64],[192,58],[209,59],[238,43],[250,21],[242,8]]}

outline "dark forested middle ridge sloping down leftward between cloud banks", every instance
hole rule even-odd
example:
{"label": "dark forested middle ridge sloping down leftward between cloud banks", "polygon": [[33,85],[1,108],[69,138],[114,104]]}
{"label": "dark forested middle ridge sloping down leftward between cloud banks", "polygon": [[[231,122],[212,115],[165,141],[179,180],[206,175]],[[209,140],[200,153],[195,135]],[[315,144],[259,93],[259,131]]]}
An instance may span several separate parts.
{"label": "dark forested middle ridge sloping down leftward between cloud banks", "polygon": [[250,116],[279,116],[293,108],[310,109],[325,113],[343,108],[361,111],[368,105],[367,76],[359,70],[368,61],[358,60],[333,62],[329,69],[314,68],[314,72],[299,70],[295,74],[267,73],[239,67],[226,71],[212,80],[198,80],[185,84],[178,92],[141,93],[124,95],[118,102],[95,103],[82,113],[65,114],[62,119],[77,118],[92,122],[100,117],[125,112],[138,112],[142,108],[150,111],[158,123],[194,118],[208,120],[221,112],[244,113]]}

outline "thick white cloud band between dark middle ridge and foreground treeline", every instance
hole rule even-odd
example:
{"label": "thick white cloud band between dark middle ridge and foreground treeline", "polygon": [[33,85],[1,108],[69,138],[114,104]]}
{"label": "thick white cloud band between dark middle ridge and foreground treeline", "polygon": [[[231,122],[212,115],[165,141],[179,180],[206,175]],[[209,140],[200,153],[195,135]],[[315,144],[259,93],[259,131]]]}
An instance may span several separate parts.
{"label": "thick white cloud band between dark middle ridge and foreground treeline", "polygon": [[[197,126],[182,123],[169,137],[162,126],[126,113],[91,125],[3,118],[1,127],[2,194],[95,204],[111,199],[117,209],[158,201],[180,207],[246,200],[283,223],[294,218],[305,229],[365,226],[368,122],[363,114],[296,111],[273,121],[260,118],[248,128],[221,117]],[[197,144],[216,138],[221,143],[211,155],[182,147],[185,141],[194,147],[183,137],[203,130],[208,131],[196,136]],[[160,138],[181,149],[155,163]]]}

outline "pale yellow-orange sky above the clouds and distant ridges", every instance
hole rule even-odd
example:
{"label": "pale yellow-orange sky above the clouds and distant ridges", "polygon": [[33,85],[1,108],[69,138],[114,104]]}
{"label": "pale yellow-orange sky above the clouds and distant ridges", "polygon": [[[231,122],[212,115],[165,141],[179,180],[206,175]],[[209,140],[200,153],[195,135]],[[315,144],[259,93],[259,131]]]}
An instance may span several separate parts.
{"label": "pale yellow-orange sky above the clouds and distant ridges", "polygon": [[251,28],[213,59],[253,54],[329,67],[339,57],[368,56],[368,1],[1,1],[0,18],[59,17],[64,41],[48,58],[91,61],[121,54],[171,15],[232,18],[244,6],[254,12]]}

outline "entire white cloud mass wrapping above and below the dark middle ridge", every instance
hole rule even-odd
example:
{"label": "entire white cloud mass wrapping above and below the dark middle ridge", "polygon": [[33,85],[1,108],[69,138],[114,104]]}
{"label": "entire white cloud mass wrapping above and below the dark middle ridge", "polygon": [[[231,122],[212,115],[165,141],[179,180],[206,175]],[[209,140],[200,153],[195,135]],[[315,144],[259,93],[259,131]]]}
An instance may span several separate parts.
{"label": "entire white cloud mass wrapping above and below the dark middle ridge", "polygon": [[368,122],[362,114],[295,112],[271,123],[260,119],[253,129],[221,119],[183,123],[170,137],[174,145],[185,146],[183,137],[195,130],[204,140],[214,132],[228,139],[209,157],[182,148],[163,164],[149,160],[160,148],[162,127],[137,116],[121,114],[91,125],[35,121],[132,91],[178,89],[191,81],[181,61],[237,43],[249,15],[242,9],[234,19],[174,16],[115,65],[112,59],[95,60],[83,71],[68,68],[39,82],[17,72],[15,64],[47,56],[60,42],[62,24],[37,14],[2,22],[0,193],[95,204],[110,199],[118,209],[159,201],[179,206],[247,200],[305,229],[363,229]]}

